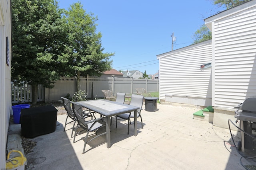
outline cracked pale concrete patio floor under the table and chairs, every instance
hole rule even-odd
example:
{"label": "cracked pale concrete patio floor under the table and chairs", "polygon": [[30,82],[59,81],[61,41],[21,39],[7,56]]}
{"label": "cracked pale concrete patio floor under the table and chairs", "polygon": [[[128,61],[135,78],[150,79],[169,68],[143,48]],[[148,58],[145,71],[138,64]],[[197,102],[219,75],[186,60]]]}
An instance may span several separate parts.
{"label": "cracked pale concrete patio floor under the table and chairs", "polygon": [[[127,135],[127,121],[118,120],[115,129],[113,119],[111,147],[106,147],[104,135],[88,143],[85,154],[82,154],[82,139],[86,133],[78,135],[76,143],[73,143],[70,137],[72,123],[66,126],[64,132],[66,115],[58,115],[54,133],[30,139],[36,141],[36,147],[26,155],[26,169],[244,170],[240,164],[241,155],[232,146],[229,130],[193,119],[193,113],[200,108],[158,104],[158,109],[154,112],[142,110],[144,128],[139,122],[136,137],[133,136],[133,126],[130,126],[130,134]],[[20,135],[20,128],[20,124],[10,124],[10,134]],[[232,133],[237,134],[236,131]],[[239,134],[235,137],[236,144]],[[250,160],[243,159],[242,162],[252,165]]]}

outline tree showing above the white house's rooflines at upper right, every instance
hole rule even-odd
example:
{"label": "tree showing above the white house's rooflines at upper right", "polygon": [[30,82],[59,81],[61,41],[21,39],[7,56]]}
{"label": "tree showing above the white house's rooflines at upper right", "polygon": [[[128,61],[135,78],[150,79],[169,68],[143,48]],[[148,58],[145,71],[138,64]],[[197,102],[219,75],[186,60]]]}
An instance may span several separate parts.
{"label": "tree showing above the white house's rooflines at upper right", "polygon": [[[225,6],[227,10],[248,1],[250,0],[212,0],[214,4],[219,7]],[[193,39],[193,44],[212,39],[212,32],[206,27],[206,25],[202,25],[198,30],[196,30],[196,32],[194,32]]]}

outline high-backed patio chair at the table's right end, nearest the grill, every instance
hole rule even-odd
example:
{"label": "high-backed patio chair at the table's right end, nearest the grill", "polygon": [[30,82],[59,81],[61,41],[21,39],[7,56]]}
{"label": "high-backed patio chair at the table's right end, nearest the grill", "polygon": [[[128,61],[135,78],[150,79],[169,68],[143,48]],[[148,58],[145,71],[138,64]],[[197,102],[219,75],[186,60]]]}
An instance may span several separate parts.
{"label": "high-backed patio chair at the table's right end, nearest the grill", "polygon": [[[132,94],[131,103],[130,103],[131,106],[140,107],[140,109],[137,110],[137,114],[135,116],[140,117],[142,129],[143,129],[143,123],[142,123],[142,117],[140,115],[140,111],[142,110],[143,98],[144,98],[144,96],[142,96],[142,95]],[[131,123],[130,119],[134,118],[134,112],[132,111],[131,113],[123,113],[121,115],[117,115],[116,116],[116,128],[117,128],[117,117],[128,120],[128,135],[129,135],[129,124]]]}

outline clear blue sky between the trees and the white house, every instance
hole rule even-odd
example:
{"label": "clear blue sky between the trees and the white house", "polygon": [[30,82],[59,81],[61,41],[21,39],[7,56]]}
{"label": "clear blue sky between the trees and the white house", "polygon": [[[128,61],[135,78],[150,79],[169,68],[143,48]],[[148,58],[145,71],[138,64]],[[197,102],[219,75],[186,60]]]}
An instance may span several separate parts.
{"label": "clear blue sky between the trees and the white house", "polygon": [[[68,10],[78,0],[57,0]],[[87,13],[98,17],[104,53],[116,70],[139,70],[154,74],[159,70],[156,55],[193,43],[193,34],[204,19],[225,10],[211,0],[80,0]]]}

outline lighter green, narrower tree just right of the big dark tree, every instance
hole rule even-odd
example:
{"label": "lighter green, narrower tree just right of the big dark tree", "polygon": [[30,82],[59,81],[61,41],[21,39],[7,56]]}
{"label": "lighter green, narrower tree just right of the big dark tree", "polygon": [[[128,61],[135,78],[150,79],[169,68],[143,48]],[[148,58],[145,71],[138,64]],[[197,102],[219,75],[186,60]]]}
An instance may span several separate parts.
{"label": "lighter green, narrower tree just right of the big dark tree", "polygon": [[103,53],[101,33],[96,33],[97,17],[87,14],[80,2],[74,3],[66,13],[68,24],[68,46],[63,60],[68,63],[70,75],[75,75],[77,91],[80,90],[80,76],[96,75],[112,69],[110,56],[114,53]]}

